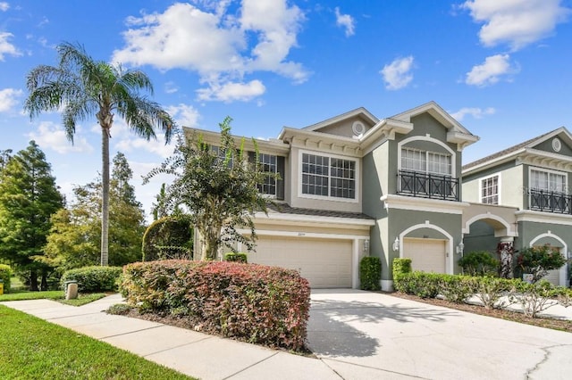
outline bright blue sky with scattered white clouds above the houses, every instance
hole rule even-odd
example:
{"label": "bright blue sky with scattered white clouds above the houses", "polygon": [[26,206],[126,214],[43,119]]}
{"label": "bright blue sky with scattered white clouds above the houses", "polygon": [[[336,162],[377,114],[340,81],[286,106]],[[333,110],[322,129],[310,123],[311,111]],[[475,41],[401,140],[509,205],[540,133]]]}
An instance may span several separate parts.
{"label": "bright blue sky with scattered white clouds above the houses", "polygon": [[[572,128],[572,0],[430,2],[314,0],[0,0],[0,149],[36,140],[70,194],[101,170],[100,128],[81,123],[71,145],[60,115],[30,122],[25,77],[78,42],[97,60],[144,70],[180,125],[275,137],[363,106],[380,119],[439,103],[481,140],[464,163]],[[140,176],[172,152],[122,120],[124,153],[148,212],[165,178]]]}

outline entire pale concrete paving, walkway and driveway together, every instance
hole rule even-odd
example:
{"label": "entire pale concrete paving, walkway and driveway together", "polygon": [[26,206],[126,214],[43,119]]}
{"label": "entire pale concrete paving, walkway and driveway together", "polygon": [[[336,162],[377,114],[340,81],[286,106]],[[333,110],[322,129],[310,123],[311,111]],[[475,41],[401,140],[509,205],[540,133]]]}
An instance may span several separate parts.
{"label": "entire pale concrete paving, walkway and driveway together", "polygon": [[[201,379],[568,379],[572,334],[352,289],[312,292],[318,359],[81,307],[0,302]],[[551,314],[571,318],[572,308]],[[572,322],[571,322],[572,323]]]}

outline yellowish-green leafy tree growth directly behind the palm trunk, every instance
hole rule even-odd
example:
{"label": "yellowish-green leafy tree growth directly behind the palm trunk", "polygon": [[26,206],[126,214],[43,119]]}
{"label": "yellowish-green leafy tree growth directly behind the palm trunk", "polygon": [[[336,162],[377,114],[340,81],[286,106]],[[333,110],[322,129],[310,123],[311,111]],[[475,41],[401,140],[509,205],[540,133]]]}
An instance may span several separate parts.
{"label": "yellowish-green leafy tree growth directly behind the palm trunk", "polygon": [[[109,263],[122,266],[141,260],[141,239],[145,231],[145,213],[130,185],[132,171],[122,153],[114,157],[110,181]],[[76,186],[75,201],[55,214],[54,226],[47,237],[46,257],[61,271],[96,265],[101,240],[101,181]]]}

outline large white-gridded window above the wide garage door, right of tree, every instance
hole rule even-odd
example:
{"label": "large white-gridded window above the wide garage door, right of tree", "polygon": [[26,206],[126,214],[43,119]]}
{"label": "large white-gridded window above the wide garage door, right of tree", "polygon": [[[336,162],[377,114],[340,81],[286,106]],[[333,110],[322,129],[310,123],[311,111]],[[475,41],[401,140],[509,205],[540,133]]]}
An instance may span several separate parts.
{"label": "large white-gridded window above the wide garage door, right of tree", "polygon": [[302,194],[356,199],[356,161],[302,153]]}

